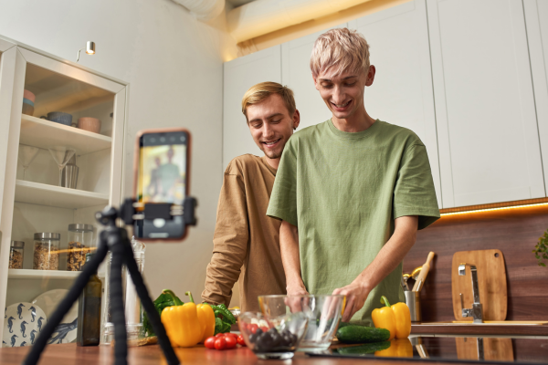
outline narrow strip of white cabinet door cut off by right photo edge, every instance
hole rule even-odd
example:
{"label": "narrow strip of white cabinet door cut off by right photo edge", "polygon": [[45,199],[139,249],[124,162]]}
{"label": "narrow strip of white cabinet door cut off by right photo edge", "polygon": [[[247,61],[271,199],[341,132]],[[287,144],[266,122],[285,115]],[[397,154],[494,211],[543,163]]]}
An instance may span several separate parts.
{"label": "narrow strip of white cabinet door cut off by right photo edge", "polygon": [[[544,184],[548,177],[548,1],[523,0],[531,58],[532,86],[543,153]],[[548,186],[546,186],[548,190]]]}

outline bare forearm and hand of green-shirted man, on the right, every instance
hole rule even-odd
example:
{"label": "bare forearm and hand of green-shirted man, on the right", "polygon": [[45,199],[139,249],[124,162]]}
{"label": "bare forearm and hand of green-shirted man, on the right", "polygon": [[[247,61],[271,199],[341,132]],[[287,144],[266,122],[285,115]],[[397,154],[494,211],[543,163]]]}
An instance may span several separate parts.
{"label": "bare forearm and hand of green-shirted man, on the right", "polygon": [[351,284],[333,290],[333,294],[346,296],[346,308],[342,315],[343,322],[348,322],[355,312],[364,307],[365,299],[371,290],[402,262],[411,247],[415,245],[417,225],[418,217],[416,215],[396,218],[394,235],[386,242],[373,262],[365,267],[364,271]]}

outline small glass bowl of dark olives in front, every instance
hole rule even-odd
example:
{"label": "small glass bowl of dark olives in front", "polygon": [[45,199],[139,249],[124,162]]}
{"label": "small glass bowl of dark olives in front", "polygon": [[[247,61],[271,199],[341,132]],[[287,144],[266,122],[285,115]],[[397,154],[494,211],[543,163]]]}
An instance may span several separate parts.
{"label": "small glass bowl of dark olives in front", "polygon": [[308,317],[302,312],[272,318],[246,312],[237,322],[246,345],[259,359],[286,360],[291,359],[299,347]]}

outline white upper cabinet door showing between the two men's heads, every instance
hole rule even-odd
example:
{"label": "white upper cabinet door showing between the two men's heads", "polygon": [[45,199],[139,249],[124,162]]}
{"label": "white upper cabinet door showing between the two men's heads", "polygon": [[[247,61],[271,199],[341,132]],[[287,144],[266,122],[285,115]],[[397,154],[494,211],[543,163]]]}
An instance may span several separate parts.
{"label": "white upper cabinet door showing between the two men's heads", "polygon": [[[346,23],[336,26],[345,27]],[[332,28],[330,28],[332,29]],[[331,111],[327,108],[320,92],[314,86],[311,72],[311,53],[314,42],[329,29],[309,36],[301,36],[281,45],[281,80],[295,95],[295,103],[300,112],[298,130],[329,120]]]}

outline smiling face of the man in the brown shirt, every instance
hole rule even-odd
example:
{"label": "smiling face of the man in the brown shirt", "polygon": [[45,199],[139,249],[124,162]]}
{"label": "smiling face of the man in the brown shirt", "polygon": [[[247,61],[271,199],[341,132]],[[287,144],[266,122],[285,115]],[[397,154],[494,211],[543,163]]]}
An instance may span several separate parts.
{"label": "smiling face of the man in the brown shirt", "polygon": [[281,157],[286,142],[299,126],[299,110],[290,115],[283,99],[272,94],[257,104],[249,105],[246,114],[251,136],[258,148],[269,159]]}

